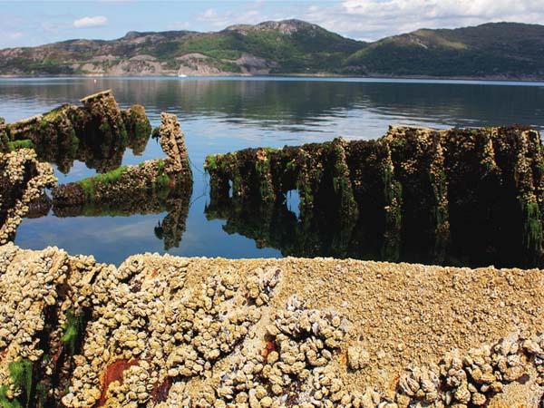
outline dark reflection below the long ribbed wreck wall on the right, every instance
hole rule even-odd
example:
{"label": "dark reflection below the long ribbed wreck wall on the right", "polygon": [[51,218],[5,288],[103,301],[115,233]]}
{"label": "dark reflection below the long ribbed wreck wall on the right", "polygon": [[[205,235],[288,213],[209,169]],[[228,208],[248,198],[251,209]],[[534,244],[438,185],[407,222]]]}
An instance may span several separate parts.
{"label": "dark reflection below the long ribbed wreck wall on the right", "polygon": [[[364,260],[414,262],[427,265],[487,266],[522,265],[522,254],[513,250],[498,252],[491,247],[496,238],[478,242],[478,237],[459,242],[452,240],[442,251],[439,241],[424,231],[412,241],[393,237],[391,246],[379,219],[365,217],[355,223],[343,222],[334,213],[305,212],[297,217],[286,202],[263,203],[228,198],[212,199],[205,209],[207,219],[225,219],[228,234],[254,239],[257,248],[277,248],[284,257],[352,257]],[[464,228],[474,228],[466,225]],[[466,236],[465,236],[466,237]],[[466,237],[466,238],[470,238]],[[504,242],[507,245],[508,242]],[[485,250],[485,247],[489,248]],[[481,251],[481,248],[484,248]],[[430,250],[431,249],[431,250]]]}

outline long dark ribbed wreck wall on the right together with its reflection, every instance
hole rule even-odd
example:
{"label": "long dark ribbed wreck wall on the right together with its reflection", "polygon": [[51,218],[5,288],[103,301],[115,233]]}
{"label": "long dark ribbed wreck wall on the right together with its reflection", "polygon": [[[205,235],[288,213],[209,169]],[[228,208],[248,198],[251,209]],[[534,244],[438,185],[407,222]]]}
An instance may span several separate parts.
{"label": "long dark ribbed wreck wall on the right together with its reflection", "polygon": [[[540,265],[540,144],[521,128],[392,128],[209,156],[207,214],[290,256]],[[285,204],[293,189],[299,219]]]}

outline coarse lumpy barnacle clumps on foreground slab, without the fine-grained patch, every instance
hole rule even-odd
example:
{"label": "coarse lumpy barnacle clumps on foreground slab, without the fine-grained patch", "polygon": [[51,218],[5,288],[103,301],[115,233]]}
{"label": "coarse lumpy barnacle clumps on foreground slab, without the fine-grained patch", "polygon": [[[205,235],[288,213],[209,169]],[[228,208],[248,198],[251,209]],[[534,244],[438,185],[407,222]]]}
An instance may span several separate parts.
{"label": "coarse lumpy barnacle clumps on foreground slab, without the fine-grained patch", "polygon": [[[210,273],[195,280],[202,262]],[[485,406],[510,384],[544,393],[544,335],[525,331],[413,364],[393,389],[350,384],[375,356],[354,338],[353,316],[290,290],[289,262],[240,274],[220,259],[145,254],[114,267],[57,248],[0,247],[0,398],[74,408],[462,408]]]}

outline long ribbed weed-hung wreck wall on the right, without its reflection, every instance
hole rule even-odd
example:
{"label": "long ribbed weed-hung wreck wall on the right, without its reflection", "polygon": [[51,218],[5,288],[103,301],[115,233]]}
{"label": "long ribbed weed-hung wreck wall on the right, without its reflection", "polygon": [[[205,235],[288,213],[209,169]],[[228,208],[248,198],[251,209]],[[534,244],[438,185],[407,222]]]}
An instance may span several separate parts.
{"label": "long ribbed weed-hung wreck wall on the right, without its reflection", "polygon": [[398,258],[402,241],[427,237],[422,246],[437,253],[452,238],[481,239],[520,254],[526,266],[542,260],[544,159],[539,132],[529,128],[391,127],[376,141],[209,156],[205,169],[216,208],[229,195],[285,202],[296,189],[301,219],[374,225],[386,259]]}

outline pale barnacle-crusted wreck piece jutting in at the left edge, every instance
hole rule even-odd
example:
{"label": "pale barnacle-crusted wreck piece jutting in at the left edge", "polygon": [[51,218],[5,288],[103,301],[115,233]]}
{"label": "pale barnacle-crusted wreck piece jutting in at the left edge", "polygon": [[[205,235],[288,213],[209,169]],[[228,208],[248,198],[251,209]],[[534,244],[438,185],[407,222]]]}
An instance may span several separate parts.
{"label": "pale barnacle-crusted wreck piece jutting in at the left edge", "polygon": [[0,245],[15,237],[29,204],[54,185],[52,167],[36,160],[34,151],[0,152]]}

